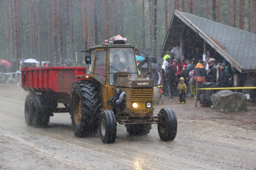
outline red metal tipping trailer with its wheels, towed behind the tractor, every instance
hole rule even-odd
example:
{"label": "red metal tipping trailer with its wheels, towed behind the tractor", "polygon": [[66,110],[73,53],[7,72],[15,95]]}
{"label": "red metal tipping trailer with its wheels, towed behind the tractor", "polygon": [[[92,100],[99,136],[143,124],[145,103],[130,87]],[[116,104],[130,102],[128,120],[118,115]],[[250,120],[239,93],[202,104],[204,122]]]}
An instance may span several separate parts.
{"label": "red metal tipping trailer with its wheels, towed behind the tractor", "polygon": [[[25,119],[28,125],[45,127],[53,113],[70,113],[74,83],[87,80],[86,67],[21,68],[22,88],[30,94],[25,101]],[[65,108],[57,108],[63,103]],[[46,114],[45,114],[46,113]]]}

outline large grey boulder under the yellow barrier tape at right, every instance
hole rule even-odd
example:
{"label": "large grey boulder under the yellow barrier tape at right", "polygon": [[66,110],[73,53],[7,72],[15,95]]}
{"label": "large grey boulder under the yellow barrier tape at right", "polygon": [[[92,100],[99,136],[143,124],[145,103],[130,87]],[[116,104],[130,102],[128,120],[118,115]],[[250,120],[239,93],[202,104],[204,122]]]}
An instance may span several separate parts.
{"label": "large grey boulder under the yellow barrier tape at right", "polygon": [[214,108],[225,111],[246,108],[246,95],[230,90],[221,90],[210,96]]}

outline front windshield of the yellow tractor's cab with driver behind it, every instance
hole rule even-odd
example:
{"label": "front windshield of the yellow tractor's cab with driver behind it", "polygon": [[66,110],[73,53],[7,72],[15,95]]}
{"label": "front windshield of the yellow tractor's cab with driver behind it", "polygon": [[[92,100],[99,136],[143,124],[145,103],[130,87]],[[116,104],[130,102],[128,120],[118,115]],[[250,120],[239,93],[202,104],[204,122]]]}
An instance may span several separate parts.
{"label": "front windshield of the yellow tractor's cab with driver behind it", "polygon": [[128,71],[138,77],[133,48],[109,48],[109,85],[115,84],[117,71]]}

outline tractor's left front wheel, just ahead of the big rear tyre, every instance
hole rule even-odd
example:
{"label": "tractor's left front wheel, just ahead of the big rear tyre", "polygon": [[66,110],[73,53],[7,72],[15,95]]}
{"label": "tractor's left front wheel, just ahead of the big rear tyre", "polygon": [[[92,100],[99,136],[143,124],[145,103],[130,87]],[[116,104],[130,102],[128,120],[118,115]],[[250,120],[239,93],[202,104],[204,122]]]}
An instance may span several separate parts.
{"label": "tractor's left front wheel, just ahead of the big rear tyre", "polygon": [[114,143],[117,136],[117,122],[112,110],[100,112],[100,138],[103,143]]}

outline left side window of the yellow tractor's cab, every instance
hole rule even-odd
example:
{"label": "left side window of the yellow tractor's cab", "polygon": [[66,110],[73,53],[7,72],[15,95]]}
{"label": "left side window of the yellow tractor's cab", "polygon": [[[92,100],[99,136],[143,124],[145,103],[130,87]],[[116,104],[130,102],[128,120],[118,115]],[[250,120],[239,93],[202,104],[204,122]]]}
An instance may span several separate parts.
{"label": "left side window of the yellow tractor's cab", "polygon": [[[95,79],[99,80],[102,84],[106,84],[106,51],[100,51],[96,53],[94,67],[93,67],[93,76]],[[96,74],[95,74],[96,73]]]}

